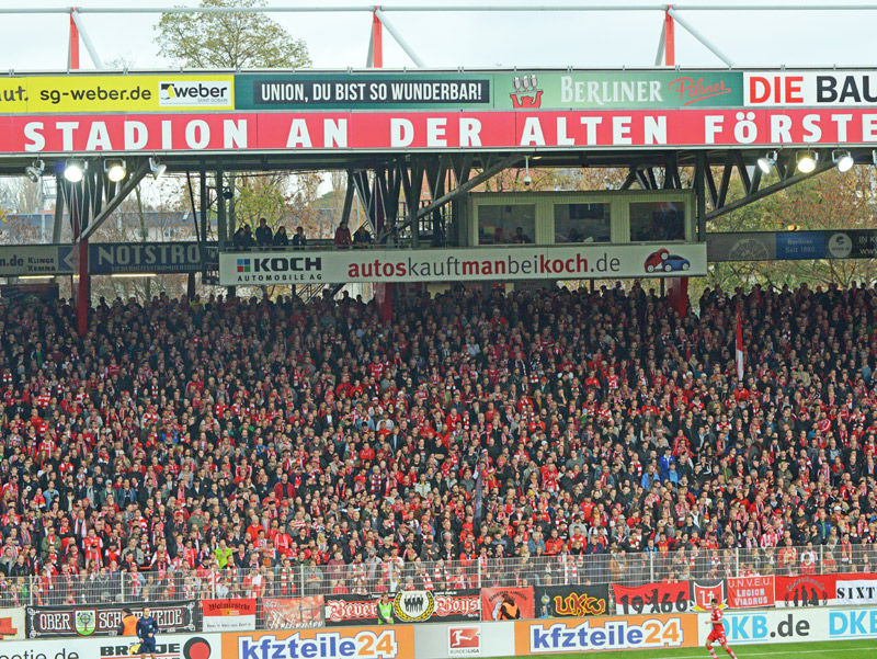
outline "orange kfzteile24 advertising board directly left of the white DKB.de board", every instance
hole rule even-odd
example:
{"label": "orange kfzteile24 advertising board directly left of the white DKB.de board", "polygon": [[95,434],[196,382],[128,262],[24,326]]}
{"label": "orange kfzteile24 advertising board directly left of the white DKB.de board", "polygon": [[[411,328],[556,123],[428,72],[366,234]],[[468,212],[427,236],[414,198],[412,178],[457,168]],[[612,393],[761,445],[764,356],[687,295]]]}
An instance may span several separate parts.
{"label": "orange kfzteile24 advertising board directly left of the white DKB.de board", "polygon": [[693,648],[697,646],[697,615],[516,621],[514,640],[517,657],[592,650]]}

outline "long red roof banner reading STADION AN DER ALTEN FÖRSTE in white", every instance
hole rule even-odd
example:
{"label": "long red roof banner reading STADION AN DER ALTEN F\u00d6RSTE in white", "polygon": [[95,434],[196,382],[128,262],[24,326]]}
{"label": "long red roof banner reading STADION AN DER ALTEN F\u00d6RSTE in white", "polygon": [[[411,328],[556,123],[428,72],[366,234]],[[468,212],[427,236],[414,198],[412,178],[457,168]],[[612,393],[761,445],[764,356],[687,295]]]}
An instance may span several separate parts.
{"label": "long red roof banner reading STADION AN DER ALTEN F\u00d6RSTE in white", "polygon": [[0,152],[877,144],[867,109],[355,112],[0,117]]}

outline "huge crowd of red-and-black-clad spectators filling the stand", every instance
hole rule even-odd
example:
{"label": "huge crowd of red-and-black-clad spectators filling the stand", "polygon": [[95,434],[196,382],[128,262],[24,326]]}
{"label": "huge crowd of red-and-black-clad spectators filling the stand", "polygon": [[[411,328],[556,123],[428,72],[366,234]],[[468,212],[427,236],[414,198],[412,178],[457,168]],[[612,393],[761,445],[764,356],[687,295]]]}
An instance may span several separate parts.
{"label": "huge crowd of red-and-black-clad spectators filling the stand", "polygon": [[639,286],[455,287],[391,322],[159,297],[75,327],[0,307],[0,604],[872,569],[875,288],[680,318]]}

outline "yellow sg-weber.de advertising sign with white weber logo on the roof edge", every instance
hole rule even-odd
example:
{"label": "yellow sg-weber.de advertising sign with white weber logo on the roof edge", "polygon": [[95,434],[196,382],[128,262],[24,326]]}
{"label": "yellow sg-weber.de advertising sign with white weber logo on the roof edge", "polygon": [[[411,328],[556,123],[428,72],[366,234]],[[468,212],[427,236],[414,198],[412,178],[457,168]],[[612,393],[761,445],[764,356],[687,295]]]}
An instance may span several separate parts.
{"label": "yellow sg-weber.de advertising sign with white weber logo on the roof edge", "polygon": [[31,76],[0,79],[0,114],[234,110],[228,75]]}

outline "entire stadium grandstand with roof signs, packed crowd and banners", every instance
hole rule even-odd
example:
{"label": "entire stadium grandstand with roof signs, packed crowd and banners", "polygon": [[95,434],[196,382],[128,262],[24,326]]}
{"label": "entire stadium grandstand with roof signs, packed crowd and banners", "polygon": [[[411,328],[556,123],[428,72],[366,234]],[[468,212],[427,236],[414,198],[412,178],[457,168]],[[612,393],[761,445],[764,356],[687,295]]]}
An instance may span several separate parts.
{"label": "entire stadium grandstand with roof signs, packed crowd and banners", "polygon": [[[117,9],[66,8],[68,69],[0,80],[4,656],[877,638],[877,280],[717,274],[875,262],[877,71],[738,67],[699,5],[653,67],[428,69],[368,7],[366,68],[311,69],[229,1],[119,11],[283,47],[105,70]],[[754,206],[794,186],[818,221]]]}

